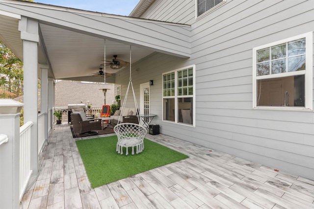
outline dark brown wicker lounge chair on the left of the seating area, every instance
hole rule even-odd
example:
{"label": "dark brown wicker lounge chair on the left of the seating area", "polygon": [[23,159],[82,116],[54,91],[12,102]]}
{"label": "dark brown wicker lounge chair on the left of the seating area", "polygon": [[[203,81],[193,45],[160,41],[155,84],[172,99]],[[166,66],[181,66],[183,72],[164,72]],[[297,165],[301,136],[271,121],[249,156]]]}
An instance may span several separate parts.
{"label": "dark brown wicker lounge chair on the left of the seating area", "polygon": [[78,134],[102,129],[101,119],[94,119],[93,121],[87,119],[82,120],[79,113],[71,113],[71,117],[73,119],[73,131]]}

